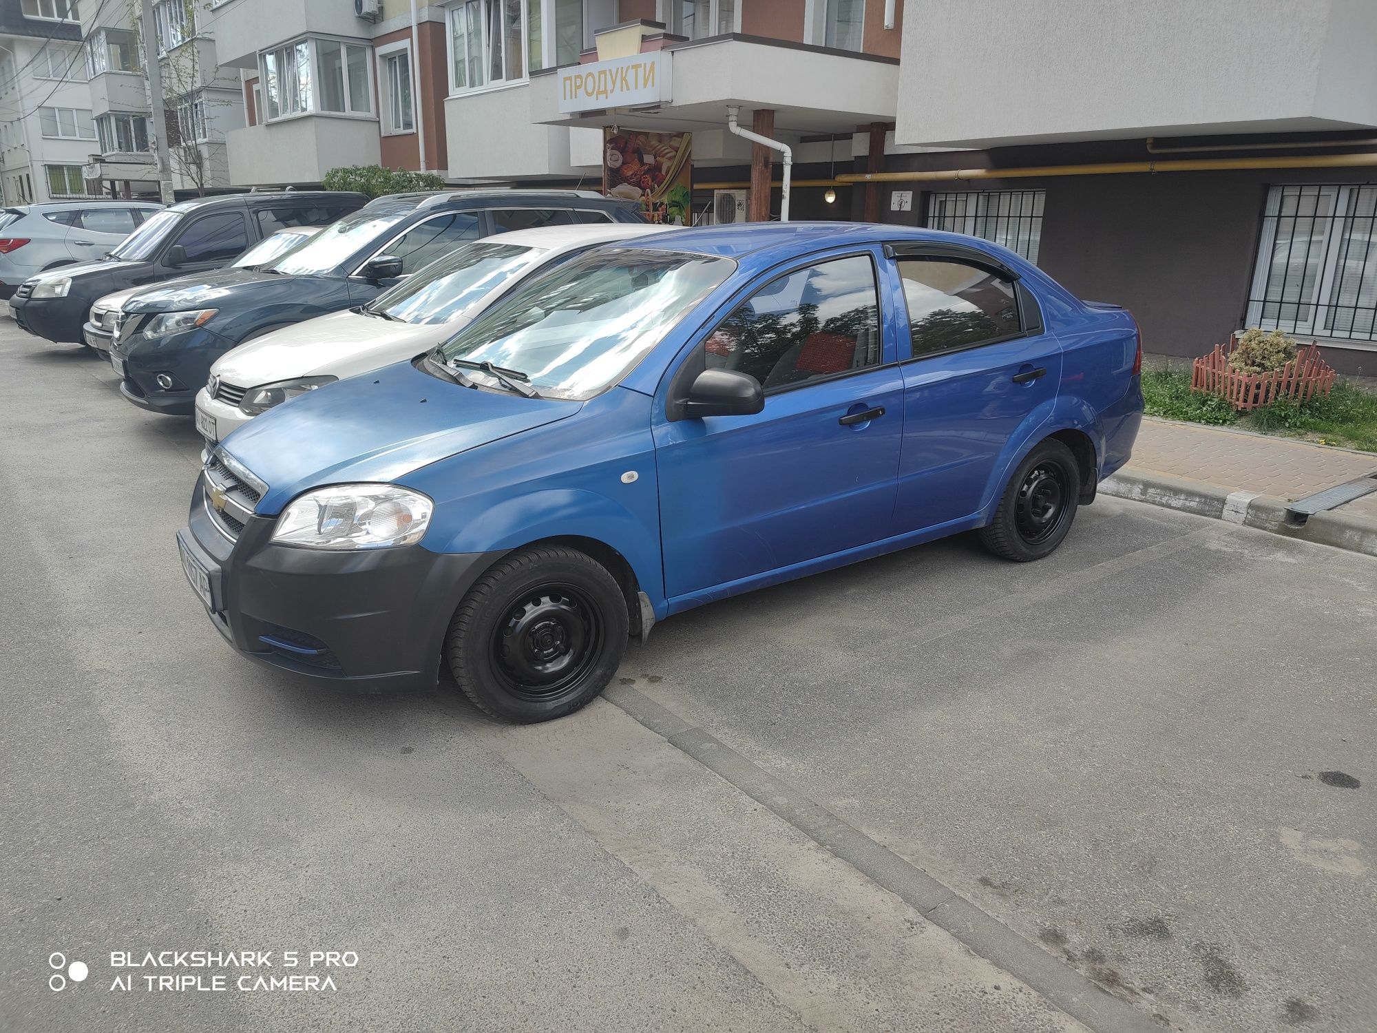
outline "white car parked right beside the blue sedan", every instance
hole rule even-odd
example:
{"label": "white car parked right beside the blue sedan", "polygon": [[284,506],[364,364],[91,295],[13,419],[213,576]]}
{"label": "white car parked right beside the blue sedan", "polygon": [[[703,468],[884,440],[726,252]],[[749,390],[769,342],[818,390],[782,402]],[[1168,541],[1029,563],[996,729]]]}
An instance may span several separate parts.
{"label": "white car parked right beside the blue sedan", "polygon": [[196,428],[208,442],[220,441],[288,398],[430,351],[537,269],[599,244],[669,229],[547,226],[464,244],[368,304],[284,326],[227,351],[196,395]]}

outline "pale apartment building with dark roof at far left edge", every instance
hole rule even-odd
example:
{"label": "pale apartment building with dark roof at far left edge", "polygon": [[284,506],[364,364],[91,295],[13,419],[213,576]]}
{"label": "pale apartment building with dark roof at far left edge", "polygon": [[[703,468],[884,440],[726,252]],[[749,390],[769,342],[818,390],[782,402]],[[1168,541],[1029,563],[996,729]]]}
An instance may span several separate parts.
{"label": "pale apartment building with dark roof at far left edge", "polygon": [[6,204],[94,191],[95,123],[76,0],[0,0],[0,189]]}

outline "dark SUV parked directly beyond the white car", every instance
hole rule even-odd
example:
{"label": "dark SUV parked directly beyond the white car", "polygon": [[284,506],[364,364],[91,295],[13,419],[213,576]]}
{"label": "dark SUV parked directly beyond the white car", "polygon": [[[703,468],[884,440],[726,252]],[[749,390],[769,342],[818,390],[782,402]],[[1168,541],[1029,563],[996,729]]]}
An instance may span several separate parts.
{"label": "dark SUV parked directly beyond the white car", "polygon": [[211,365],[270,331],[373,300],[460,244],[515,229],[644,222],[625,201],[578,190],[449,190],[379,197],[259,270],[211,273],[124,306],[110,359],[120,393],[189,416]]}

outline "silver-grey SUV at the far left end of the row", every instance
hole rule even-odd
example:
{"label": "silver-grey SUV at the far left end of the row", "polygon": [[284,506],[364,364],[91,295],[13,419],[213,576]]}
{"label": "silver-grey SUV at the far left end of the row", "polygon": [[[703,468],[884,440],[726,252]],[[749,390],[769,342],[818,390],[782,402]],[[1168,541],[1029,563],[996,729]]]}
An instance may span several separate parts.
{"label": "silver-grey SUV at the far left end of the row", "polygon": [[8,300],[37,273],[105,258],[161,208],[95,198],[0,208],[0,298]]}

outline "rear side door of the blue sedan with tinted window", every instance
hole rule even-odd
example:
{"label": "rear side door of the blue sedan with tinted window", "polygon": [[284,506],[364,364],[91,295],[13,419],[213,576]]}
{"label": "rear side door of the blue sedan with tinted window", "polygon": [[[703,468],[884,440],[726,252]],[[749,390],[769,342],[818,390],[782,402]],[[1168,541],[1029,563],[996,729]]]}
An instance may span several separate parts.
{"label": "rear side door of the blue sedan with tinted window", "polygon": [[982,507],[1009,437],[1056,399],[1062,348],[1031,291],[974,249],[899,249],[894,269],[907,306],[896,508],[907,532]]}

